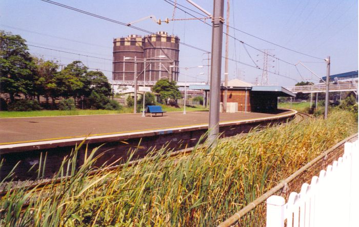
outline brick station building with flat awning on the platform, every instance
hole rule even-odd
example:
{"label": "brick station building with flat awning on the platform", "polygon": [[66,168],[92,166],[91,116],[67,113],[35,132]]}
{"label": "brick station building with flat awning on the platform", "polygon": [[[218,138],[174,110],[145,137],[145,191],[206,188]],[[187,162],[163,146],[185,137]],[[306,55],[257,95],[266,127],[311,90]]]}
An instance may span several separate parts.
{"label": "brick station building with flat awning on the platform", "polygon": [[[209,91],[209,85],[190,85],[189,90]],[[225,87],[221,87],[221,102],[225,95]],[[206,95],[207,96],[207,95]],[[233,79],[227,86],[227,111],[270,113],[277,110],[278,97],[295,97],[295,94],[280,86],[252,86]],[[233,108],[235,104],[235,108]]]}

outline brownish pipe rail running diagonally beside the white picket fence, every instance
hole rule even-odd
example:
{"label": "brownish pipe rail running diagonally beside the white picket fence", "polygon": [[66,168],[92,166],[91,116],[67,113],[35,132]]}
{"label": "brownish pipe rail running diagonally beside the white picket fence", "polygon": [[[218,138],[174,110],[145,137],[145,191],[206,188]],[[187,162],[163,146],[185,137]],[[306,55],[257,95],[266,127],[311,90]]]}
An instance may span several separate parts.
{"label": "brownish pipe rail running diagonally beside the white picket fence", "polygon": [[341,147],[344,145],[345,142],[349,141],[350,139],[357,137],[358,133],[355,133],[354,135],[351,135],[345,139],[343,139],[342,141],[336,143],[336,145],[334,145],[333,147],[331,147],[330,149],[322,152],[322,154],[318,155],[316,158],[314,158],[313,160],[311,160],[310,162],[308,162],[304,167],[302,167],[301,169],[297,170],[296,172],[294,172],[292,175],[290,175],[289,177],[287,177],[286,179],[284,179],[283,181],[281,181],[280,183],[278,183],[275,187],[273,187],[272,189],[270,189],[269,191],[267,191],[266,193],[264,193],[263,195],[261,195],[260,197],[256,198],[254,201],[250,202],[248,205],[246,205],[246,207],[244,207],[242,210],[236,212],[235,214],[233,214],[231,217],[229,217],[228,219],[226,219],[225,221],[223,221],[222,223],[220,223],[219,225],[217,225],[217,227],[228,227],[230,225],[232,225],[233,223],[235,223],[236,221],[238,221],[241,217],[243,217],[245,214],[247,214],[248,212],[250,212],[251,210],[253,210],[257,205],[261,204],[262,202],[264,202],[267,198],[269,198],[271,195],[273,195],[274,193],[276,193],[277,191],[281,190],[282,188],[286,187],[286,185],[292,181],[293,179],[295,179],[297,176],[299,176],[301,173],[303,173],[304,171],[306,171],[310,166],[312,166],[314,163],[316,163],[317,161],[321,160],[322,158],[324,158],[326,155],[328,155],[329,153],[331,153],[332,151],[336,150],[337,148]]}

